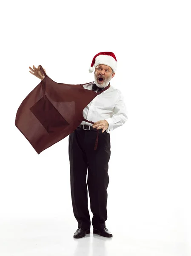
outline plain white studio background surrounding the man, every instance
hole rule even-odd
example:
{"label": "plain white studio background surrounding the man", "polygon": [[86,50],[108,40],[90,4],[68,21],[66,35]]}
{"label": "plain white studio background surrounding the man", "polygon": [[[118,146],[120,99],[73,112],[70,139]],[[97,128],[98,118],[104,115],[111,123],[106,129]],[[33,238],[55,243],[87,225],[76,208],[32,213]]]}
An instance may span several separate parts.
{"label": "plain white studio background surrounding the man", "polygon": [[[1,5],[2,256],[191,255],[190,4]],[[116,55],[111,85],[121,90],[128,109],[125,125],[110,133],[106,227],[114,237],[76,241],[68,137],[38,155],[14,121],[23,99],[40,83],[29,66],[42,65],[54,81],[83,84],[94,81],[88,69],[103,51]]]}

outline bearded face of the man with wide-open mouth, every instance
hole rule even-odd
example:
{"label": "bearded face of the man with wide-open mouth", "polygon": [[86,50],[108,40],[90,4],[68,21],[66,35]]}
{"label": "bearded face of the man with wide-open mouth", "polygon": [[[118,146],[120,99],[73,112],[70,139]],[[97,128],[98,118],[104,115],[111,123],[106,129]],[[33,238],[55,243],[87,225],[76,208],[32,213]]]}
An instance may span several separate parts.
{"label": "bearded face of the man with wide-open mouth", "polygon": [[114,77],[114,75],[115,73],[113,73],[111,67],[100,64],[95,68],[95,84],[98,87],[103,88],[108,85],[109,81]]}

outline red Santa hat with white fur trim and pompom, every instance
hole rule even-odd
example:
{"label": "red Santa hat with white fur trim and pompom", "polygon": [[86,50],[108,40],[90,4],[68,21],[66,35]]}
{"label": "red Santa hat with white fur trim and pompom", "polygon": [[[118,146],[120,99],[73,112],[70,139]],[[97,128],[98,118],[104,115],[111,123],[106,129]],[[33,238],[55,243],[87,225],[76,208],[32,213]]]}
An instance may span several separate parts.
{"label": "red Santa hat with white fur trim and pompom", "polygon": [[99,52],[96,54],[91,62],[89,73],[92,73],[94,71],[94,67],[97,67],[99,64],[111,67],[114,73],[117,70],[117,59],[113,52]]}

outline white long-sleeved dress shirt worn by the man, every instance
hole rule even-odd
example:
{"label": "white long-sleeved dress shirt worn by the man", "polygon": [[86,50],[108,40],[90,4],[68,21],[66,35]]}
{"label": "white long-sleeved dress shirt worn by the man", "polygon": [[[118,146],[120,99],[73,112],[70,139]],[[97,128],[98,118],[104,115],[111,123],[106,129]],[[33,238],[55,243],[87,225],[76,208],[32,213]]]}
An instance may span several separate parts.
{"label": "white long-sleeved dress shirt worn by the man", "polygon": [[[92,83],[85,84],[83,87],[92,90]],[[96,90],[97,92],[97,90]],[[83,109],[83,117],[92,122],[106,120],[109,124],[107,133],[113,131],[117,127],[124,125],[127,121],[127,109],[124,102],[124,97],[120,90],[113,86],[98,94],[87,106]],[[90,125],[91,123],[82,121],[81,125]]]}

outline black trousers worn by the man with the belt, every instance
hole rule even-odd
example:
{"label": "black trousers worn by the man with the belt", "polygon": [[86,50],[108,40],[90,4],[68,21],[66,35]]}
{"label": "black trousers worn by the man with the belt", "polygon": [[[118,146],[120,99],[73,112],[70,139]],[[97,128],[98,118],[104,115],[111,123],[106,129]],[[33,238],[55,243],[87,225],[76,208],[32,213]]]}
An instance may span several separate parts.
{"label": "black trousers worn by the man with the belt", "polygon": [[102,129],[99,129],[97,150],[94,150],[96,137],[97,131],[86,131],[82,128],[77,128],[69,135],[68,152],[72,207],[74,216],[78,221],[78,227],[87,229],[91,226],[88,192],[90,209],[93,213],[93,227],[104,228],[107,220],[108,162],[111,155],[110,134],[106,131],[102,133]]}

